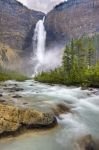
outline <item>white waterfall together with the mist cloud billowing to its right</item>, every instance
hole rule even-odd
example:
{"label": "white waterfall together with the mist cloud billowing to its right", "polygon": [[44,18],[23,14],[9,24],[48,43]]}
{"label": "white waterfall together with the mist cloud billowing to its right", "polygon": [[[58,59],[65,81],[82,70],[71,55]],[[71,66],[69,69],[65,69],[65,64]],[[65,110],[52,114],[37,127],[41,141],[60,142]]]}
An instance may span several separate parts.
{"label": "white waterfall together with the mist cloud billowing to its right", "polygon": [[32,62],[34,64],[33,74],[42,71],[55,69],[61,65],[62,50],[60,46],[53,49],[46,49],[46,30],[44,20],[39,20],[36,24],[33,36],[33,54]]}

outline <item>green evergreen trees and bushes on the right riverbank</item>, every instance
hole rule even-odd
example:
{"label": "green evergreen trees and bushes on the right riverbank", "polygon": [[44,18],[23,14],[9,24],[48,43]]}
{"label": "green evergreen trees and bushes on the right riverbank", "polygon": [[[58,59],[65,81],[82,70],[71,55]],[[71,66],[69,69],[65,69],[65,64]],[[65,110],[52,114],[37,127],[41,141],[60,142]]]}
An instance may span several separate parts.
{"label": "green evergreen trees and bushes on the right riverbank", "polygon": [[99,37],[82,37],[66,45],[62,66],[53,71],[42,72],[35,80],[45,83],[99,87],[99,63],[96,42]]}

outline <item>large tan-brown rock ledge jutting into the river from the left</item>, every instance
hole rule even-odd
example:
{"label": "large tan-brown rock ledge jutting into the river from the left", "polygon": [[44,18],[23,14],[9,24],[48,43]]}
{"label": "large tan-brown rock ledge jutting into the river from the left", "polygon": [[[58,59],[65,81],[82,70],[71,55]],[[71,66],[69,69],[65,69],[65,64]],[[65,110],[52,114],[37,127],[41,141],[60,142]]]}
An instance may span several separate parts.
{"label": "large tan-brown rock ledge jutting into the river from the left", "polygon": [[34,128],[51,128],[56,124],[53,114],[0,104],[0,138],[9,135],[16,136]]}

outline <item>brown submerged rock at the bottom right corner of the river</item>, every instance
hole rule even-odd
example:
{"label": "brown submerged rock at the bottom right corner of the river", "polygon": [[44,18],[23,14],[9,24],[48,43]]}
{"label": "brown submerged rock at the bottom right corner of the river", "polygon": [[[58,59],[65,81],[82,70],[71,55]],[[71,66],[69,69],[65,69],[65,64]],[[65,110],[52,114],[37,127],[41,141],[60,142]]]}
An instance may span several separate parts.
{"label": "brown submerged rock at the bottom right corner of the river", "polygon": [[75,150],[96,150],[95,142],[91,135],[86,135],[77,140]]}

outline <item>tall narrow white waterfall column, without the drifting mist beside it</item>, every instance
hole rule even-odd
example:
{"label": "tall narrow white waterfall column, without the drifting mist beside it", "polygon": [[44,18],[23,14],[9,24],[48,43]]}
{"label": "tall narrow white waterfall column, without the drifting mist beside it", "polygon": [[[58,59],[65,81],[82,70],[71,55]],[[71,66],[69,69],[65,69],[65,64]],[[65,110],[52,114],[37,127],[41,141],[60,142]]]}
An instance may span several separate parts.
{"label": "tall narrow white waterfall column, without the drifting mist beside it", "polygon": [[34,73],[42,71],[45,56],[46,31],[44,20],[39,20],[36,24],[33,36],[33,57],[35,59]]}

